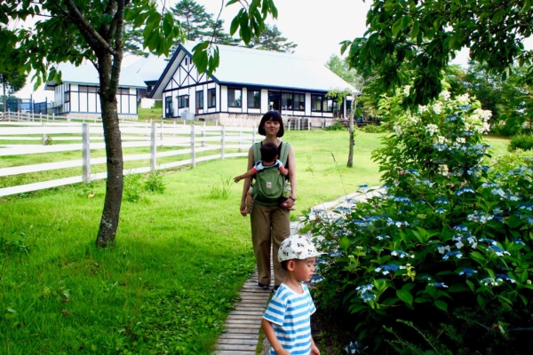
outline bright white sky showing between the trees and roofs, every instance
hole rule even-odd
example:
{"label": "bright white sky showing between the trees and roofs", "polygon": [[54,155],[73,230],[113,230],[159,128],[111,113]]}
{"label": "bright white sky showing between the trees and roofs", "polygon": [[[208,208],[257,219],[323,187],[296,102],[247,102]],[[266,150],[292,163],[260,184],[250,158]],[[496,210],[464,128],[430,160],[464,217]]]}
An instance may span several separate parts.
{"label": "bright white sky showing between the trees and roofs", "polygon": [[[162,1],[162,0],[159,0]],[[173,6],[179,0],[166,1],[167,6]],[[209,13],[217,18],[222,3],[227,0],[196,0],[205,6]],[[294,53],[313,57],[315,60],[326,63],[332,54],[340,56],[340,43],[344,40],[353,40],[355,37],[364,36],[366,30],[366,13],[370,8],[371,0],[274,0],[278,9],[277,20],[268,20],[270,25],[275,24],[289,42],[297,43]],[[240,10],[239,3],[224,7],[221,19],[225,20],[226,31],[229,32],[231,20]],[[533,44],[533,37],[529,38]],[[530,46],[533,48],[533,45]],[[131,57],[125,57],[124,65],[132,62]],[[468,51],[461,51],[453,63],[466,66]],[[39,88],[33,91],[33,83],[19,91],[17,95],[22,99],[29,99],[32,95],[36,102],[53,100],[53,91],[44,91]]]}

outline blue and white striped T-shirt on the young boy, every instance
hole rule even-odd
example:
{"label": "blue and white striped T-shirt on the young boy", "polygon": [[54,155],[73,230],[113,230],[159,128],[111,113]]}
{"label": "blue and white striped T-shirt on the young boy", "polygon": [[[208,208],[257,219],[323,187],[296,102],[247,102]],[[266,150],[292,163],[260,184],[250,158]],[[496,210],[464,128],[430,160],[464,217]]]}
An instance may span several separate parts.
{"label": "blue and white striped T-shirt on the young boy", "polygon": [[[298,294],[281,284],[263,315],[272,323],[276,338],[290,355],[311,353],[311,314],[316,308],[306,284],[301,285],[304,292]],[[270,354],[276,355],[272,347]]]}

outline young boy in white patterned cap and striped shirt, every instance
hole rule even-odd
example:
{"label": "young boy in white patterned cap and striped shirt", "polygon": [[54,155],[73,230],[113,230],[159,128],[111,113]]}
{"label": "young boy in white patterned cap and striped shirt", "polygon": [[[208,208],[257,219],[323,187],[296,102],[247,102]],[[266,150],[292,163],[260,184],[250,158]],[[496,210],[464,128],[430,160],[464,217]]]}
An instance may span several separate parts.
{"label": "young boy in white patterned cap and striped shirt", "polygon": [[271,355],[320,355],[311,336],[311,314],[316,308],[306,286],[318,255],[303,235],[291,235],[280,245],[278,260],[287,277],[272,296],[261,322]]}

